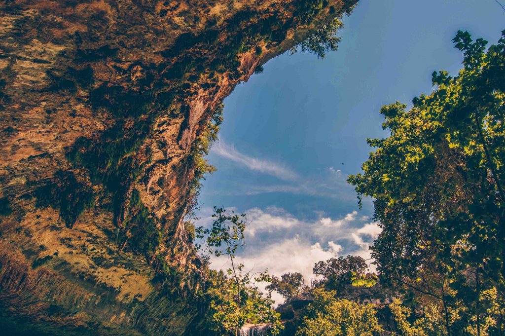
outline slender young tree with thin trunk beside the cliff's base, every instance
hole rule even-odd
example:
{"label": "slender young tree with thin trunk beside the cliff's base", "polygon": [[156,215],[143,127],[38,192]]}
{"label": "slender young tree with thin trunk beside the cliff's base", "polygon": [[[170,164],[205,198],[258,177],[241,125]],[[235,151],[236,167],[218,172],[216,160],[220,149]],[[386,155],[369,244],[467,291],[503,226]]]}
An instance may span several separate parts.
{"label": "slender young tree with thin trunk beside the cliff's base", "polygon": [[[245,323],[270,323],[272,335],[282,329],[280,315],[273,308],[274,301],[270,294],[263,295],[257,283],[270,282],[271,277],[265,272],[258,275],[242,273],[243,264],[236,264],[235,254],[244,239],[246,224],[245,214],[237,215],[233,211],[228,215],[223,208],[214,207],[215,213],[211,228],[196,228],[196,237],[205,238],[206,251],[216,257],[228,256],[231,267],[224,273],[212,273],[212,285],[205,294],[209,302],[208,317],[212,330],[221,335],[238,336],[239,329]],[[197,249],[201,245],[195,244]]]}

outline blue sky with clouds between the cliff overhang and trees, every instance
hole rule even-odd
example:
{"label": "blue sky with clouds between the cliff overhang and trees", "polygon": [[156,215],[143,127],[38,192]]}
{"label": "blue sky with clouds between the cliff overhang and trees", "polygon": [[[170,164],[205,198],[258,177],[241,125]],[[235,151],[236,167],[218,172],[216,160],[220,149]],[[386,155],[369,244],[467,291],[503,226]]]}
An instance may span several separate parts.
{"label": "blue sky with clouds between the cliff overhang and trees", "polygon": [[337,52],[281,55],[225,100],[199,217],[209,223],[213,206],[248,214],[249,268],[309,281],[314,262],[367,257],[380,230],[345,180],[368,158],[366,138],[387,135],[380,107],[431,92],[434,70],[456,74],[459,29],[490,43],[505,29],[495,0],[361,0],[343,21]]}

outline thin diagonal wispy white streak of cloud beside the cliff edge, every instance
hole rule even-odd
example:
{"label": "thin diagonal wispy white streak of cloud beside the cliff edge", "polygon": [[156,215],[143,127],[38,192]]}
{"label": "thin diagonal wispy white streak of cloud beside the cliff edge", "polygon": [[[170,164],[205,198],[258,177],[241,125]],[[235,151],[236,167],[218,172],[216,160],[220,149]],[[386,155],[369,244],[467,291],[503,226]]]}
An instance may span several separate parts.
{"label": "thin diagonal wispy white streak of cloud beside the cliff edge", "polygon": [[240,153],[233,146],[227,145],[223,139],[219,139],[217,145],[213,147],[213,153],[250,170],[272,175],[282,180],[293,181],[298,178],[298,175],[286,166]]}

